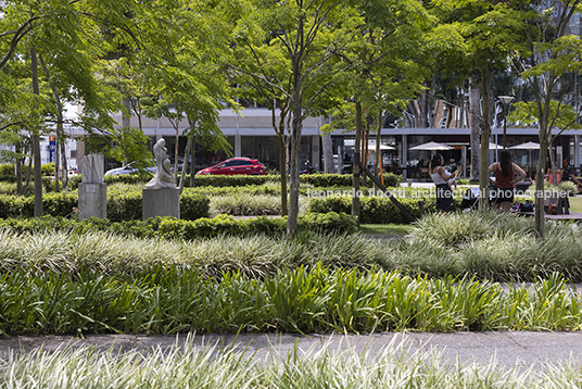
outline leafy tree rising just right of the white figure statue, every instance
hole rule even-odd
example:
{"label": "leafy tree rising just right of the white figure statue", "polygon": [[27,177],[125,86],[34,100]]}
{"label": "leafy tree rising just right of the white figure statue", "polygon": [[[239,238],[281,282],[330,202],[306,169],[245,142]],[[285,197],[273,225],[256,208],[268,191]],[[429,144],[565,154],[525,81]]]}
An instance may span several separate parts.
{"label": "leafy tree rising just right of the white figure statue", "polygon": [[[230,98],[225,66],[229,9],[230,4],[225,2],[174,0],[151,2],[136,14],[136,21],[147,26],[141,37],[148,43],[136,55],[146,84],[166,105],[164,110],[174,118],[177,133],[180,118],[188,121],[180,190],[194,138],[213,150],[230,153],[231,146],[217,126],[218,112],[225,105],[237,109]],[[149,114],[159,117],[160,113]],[[175,158],[177,166],[177,152]],[[195,161],[193,155],[191,161]],[[192,185],[193,176],[192,166]]]}

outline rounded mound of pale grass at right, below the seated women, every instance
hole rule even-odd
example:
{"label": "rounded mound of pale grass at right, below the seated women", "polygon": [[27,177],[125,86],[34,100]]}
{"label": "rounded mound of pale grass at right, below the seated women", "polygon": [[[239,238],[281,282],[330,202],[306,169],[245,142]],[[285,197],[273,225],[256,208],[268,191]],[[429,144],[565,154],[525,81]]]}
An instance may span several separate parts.
{"label": "rounded mound of pale grass at right, below the seated women", "polygon": [[532,281],[557,272],[580,281],[581,233],[575,223],[546,221],[546,238],[540,239],[532,217],[496,212],[430,215],[416,223],[389,261],[431,276]]}

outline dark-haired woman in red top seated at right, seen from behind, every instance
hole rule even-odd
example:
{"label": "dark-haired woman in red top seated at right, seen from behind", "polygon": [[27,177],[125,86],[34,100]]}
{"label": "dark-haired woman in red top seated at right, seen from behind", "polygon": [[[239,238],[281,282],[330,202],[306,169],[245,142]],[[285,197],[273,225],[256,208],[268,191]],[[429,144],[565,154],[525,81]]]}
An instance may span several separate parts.
{"label": "dark-haired woman in red top seated at right, seen from behind", "polygon": [[[504,212],[509,212],[514,203],[516,183],[526,178],[526,172],[511,162],[509,150],[502,150],[499,162],[491,164],[489,173],[495,174],[495,180],[489,177],[489,181],[497,189],[493,193],[493,208],[496,210],[502,208]],[[516,173],[518,177],[516,177]]]}

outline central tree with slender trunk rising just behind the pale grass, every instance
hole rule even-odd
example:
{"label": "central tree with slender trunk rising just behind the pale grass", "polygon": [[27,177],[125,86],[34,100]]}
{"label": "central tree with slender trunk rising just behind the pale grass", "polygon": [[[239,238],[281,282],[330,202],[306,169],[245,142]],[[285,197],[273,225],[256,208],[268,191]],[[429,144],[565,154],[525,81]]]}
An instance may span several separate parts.
{"label": "central tree with slender trunk rising just behind the pale grass", "polygon": [[287,63],[288,77],[279,84],[260,78],[291,102],[288,238],[298,228],[303,121],[319,113],[321,105],[317,104],[332,84],[330,64],[349,39],[344,28],[352,20],[352,9],[347,5],[344,0],[252,0],[239,9],[237,34],[244,34],[253,50],[269,47],[280,55],[281,63]]}

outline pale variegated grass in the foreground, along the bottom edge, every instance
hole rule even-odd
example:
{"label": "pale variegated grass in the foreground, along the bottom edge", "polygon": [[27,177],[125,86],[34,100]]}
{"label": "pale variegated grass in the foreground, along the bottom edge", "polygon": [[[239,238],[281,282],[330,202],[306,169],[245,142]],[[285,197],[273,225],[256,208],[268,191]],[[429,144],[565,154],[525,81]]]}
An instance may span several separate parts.
{"label": "pale variegated grass in the foreground, along the bottom edge", "polygon": [[275,348],[261,360],[252,350],[228,346],[155,349],[149,353],[114,350],[97,352],[86,347],[55,352],[13,354],[3,361],[0,380],[7,388],[567,388],[579,387],[579,366],[532,369],[503,368],[494,360],[447,363],[435,350],[410,351],[393,341],[382,350],[357,351],[342,344],[308,350]]}

